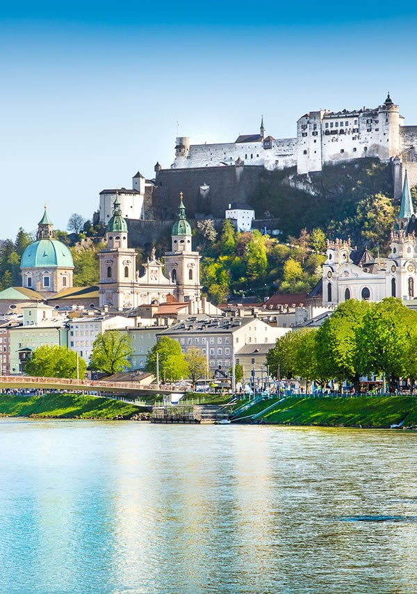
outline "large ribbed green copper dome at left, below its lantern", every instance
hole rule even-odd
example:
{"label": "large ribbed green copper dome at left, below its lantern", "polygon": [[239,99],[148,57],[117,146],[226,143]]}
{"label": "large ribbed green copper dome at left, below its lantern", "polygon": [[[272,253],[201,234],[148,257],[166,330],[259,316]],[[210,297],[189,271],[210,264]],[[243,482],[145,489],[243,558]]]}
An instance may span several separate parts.
{"label": "large ribbed green copper dome at left, below its lantern", "polygon": [[22,255],[21,268],[74,268],[70,250],[58,239],[33,241]]}

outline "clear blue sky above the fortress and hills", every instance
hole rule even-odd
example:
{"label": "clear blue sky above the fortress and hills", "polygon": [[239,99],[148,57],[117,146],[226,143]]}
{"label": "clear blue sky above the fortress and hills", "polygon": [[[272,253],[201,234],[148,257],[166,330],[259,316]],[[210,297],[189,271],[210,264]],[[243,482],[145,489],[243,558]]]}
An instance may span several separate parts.
{"label": "clear blue sky above the fortress and hills", "polygon": [[[417,3],[15,0],[0,11],[0,239],[91,218],[103,188],[193,143],[295,136],[384,102],[417,125]],[[178,124],[177,124],[178,122]],[[184,197],[186,200],[186,197]]]}

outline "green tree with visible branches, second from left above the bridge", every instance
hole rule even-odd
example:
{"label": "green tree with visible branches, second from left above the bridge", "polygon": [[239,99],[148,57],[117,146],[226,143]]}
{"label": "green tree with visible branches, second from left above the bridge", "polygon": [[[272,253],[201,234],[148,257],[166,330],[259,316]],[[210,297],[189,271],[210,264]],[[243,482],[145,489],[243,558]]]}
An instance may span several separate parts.
{"label": "green tree with visible branches, second from left above the bridge", "polygon": [[98,334],[92,344],[89,369],[117,374],[131,367],[128,357],[133,353],[131,338],[119,330],[106,330]]}

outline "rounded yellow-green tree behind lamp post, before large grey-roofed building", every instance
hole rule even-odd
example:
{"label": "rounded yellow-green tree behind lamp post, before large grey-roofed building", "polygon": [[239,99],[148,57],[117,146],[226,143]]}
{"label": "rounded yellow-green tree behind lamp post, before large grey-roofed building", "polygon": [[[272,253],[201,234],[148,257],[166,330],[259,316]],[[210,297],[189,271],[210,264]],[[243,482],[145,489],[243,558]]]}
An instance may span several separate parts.
{"label": "rounded yellow-green tree behind lamp post, before large grey-roofed building", "polygon": [[169,382],[177,381],[188,374],[188,366],[179,342],[163,336],[148,353],[145,371],[156,377],[156,354],[159,357],[159,375]]}

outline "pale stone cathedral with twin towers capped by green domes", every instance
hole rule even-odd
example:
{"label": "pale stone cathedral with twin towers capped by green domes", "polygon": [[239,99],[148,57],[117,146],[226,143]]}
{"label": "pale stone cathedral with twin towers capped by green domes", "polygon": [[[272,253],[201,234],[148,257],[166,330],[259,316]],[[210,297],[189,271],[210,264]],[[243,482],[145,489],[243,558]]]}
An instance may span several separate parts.
{"label": "pale stone cathedral with twin towers capped by green domes", "polygon": [[128,235],[116,193],[113,216],[107,225],[107,247],[99,253],[101,307],[129,310],[149,303],[165,303],[168,296],[181,302],[199,303],[200,256],[193,251],[182,193],[178,217],[172,226],[172,250],[165,252],[165,265],[156,258],[153,248],[140,275],[136,269],[136,250],[128,247]]}

